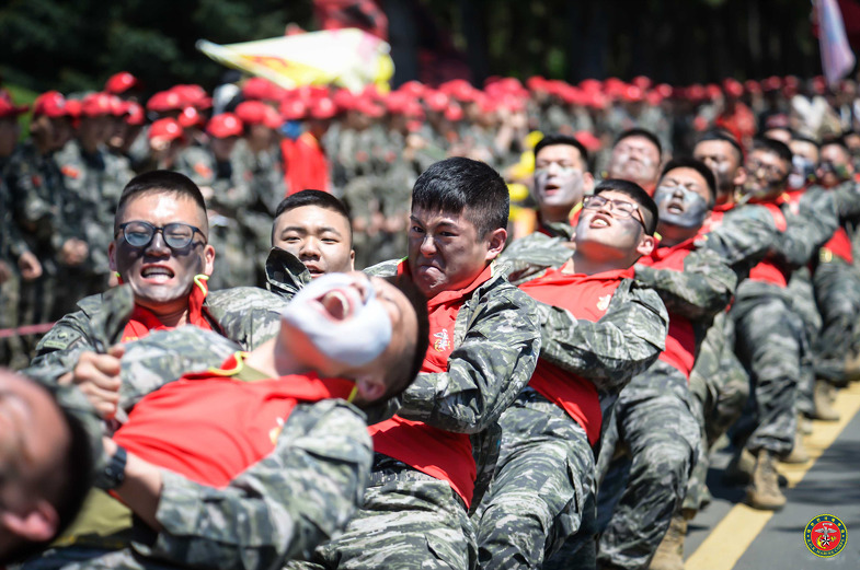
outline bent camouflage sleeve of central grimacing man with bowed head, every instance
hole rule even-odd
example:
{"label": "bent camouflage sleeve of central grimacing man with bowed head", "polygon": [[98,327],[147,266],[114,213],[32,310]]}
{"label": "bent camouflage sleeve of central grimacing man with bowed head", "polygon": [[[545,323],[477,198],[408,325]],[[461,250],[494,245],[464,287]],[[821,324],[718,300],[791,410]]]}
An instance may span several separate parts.
{"label": "bent camouflage sleeve of central grimacing man with bowed head", "polygon": [[418,374],[403,393],[398,412],[403,418],[477,433],[498,419],[531,379],[540,352],[535,301],[498,276],[467,305],[472,302],[477,306],[463,306],[457,317],[448,371]]}

